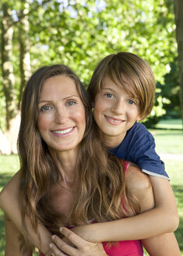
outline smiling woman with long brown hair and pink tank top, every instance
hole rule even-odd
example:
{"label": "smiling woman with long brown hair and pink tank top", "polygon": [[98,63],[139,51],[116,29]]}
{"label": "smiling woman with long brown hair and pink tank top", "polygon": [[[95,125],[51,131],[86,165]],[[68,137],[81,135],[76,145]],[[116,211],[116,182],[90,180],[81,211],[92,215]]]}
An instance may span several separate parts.
{"label": "smiling woman with long brown hair and pink tank top", "polygon": [[[39,222],[59,235],[60,226],[83,225],[91,219],[95,222],[121,219],[153,207],[153,193],[146,176],[131,165],[124,180],[121,162],[107,155],[100,144],[86,93],[69,68],[43,67],[30,77],[23,94],[21,120],[18,140],[21,168],[15,179],[19,182],[26,245],[31,245],[35,238],[31,232],[37,232]],[[27,215],[33,230],[26,225]],[[17,255],[30,255],[29,247],[26,253],[20,251],[19,231],[12,222],[13,219],[6,218],[5,254],[11,255],[13,250]],[[65,232],[69,231],[62,232],[67,236]],[[76,243],[76,236],[72,242]],[[83,250],[82,243],[76,250]],[[132,251],[135,244],[134,254],[142,255],[139,241],[130,243],[119,245]],[[87,246],[92,250],[90,255],[108,252],[105,245],[104,249],[101,244]]]}

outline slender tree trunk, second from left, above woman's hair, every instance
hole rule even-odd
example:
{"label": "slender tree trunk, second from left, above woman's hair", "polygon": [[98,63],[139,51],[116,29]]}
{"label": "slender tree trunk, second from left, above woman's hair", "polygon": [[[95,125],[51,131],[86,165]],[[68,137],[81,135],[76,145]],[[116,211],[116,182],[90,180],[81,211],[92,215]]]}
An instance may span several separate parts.
{"label": "slender tree trunk, second from left, above woman's hair", "polygon": [[20,11],[20,16],[23,16],[23,18],[19,20],[19,69],[21,76],[19,87],[19,105],[22,98],[23,89],[31,75],[29,40],[30,24],[27,16],[30,9],[30,0],[22,0],[21,2],[23,3],[23,9]]}

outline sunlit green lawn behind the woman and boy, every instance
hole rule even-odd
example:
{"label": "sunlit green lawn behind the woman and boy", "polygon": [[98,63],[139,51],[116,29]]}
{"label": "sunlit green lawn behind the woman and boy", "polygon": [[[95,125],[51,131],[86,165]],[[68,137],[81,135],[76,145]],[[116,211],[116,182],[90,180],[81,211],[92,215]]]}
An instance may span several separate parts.
{"label": "sunlit green lawn behind the woman and boy", "polygon": [[[175,125],[170,122],[170,125]],[[168,126],[167,123],[164,123]],[[181,127],[181,123],[178,123]],[[177,127],[175,128],[177,129]],[[150,130],[155,137],[157,144],[157,152],[159,154],[183,154],[183,133],[182,130]],[[181,248],[181,255],[183,255],[183,158],[174,160],[163,158],[166,170],[171,178],[171,186],[178,203],[178,213],[180,216],[180,225],[176,230],[175,235],[178,239],[179,247]],[[5,186],[5,183],[11,178],[14,172],[19,169],[19,160],[17,155],[0,155],[0,190]],[[5,248],[5,229],[3,224],[3,215],[0,210],[0,256],[4,255]]]}

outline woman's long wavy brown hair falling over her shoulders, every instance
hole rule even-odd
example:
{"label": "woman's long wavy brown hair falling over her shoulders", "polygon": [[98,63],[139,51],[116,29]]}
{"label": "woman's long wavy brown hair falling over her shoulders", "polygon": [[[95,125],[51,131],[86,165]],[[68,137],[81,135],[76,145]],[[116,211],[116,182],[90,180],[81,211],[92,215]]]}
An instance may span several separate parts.
{"label": "woman's long wavy brown hair falling over her shoulders", "polygon": [[126,193],[121,162],[114,155],[109,155],[100,142],[90,101],[78,77],[64,65],[44,66],[33,73],[26,84],[18,137],[21,214],[23,235],[28,245],[30,240],[26,229],[26,215],[29,216],[35,232],[38,220],[53,233],[58,233],[59,227],[65,225],[62,216],[50,208],[50,188],[58,183],[59,172],[37,127],[38,101],[42,84],[49,77],[58,75],[69,76],[74,80],[86,112],[86,130],[79,144],[76,162],[79,188],[69,221],[73,225],[82,225],[91,217],[97,222],[121,219],[121,216],[127,215],[121,205],[121,195],[135,213],[139,212],[139,204],[135,197]]}

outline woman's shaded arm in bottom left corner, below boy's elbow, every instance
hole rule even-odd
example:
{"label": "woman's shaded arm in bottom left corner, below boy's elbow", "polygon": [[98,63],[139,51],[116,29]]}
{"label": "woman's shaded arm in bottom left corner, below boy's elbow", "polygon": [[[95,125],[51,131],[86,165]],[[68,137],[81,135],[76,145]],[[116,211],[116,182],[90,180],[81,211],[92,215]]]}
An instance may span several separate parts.
{"label": "woman's shaded arm in bottom left corner, below boy's elbow", "polygon": [[16,229],[16,226],[5,215],[5,256],[31,256],[32,251],[23,247],[21,250],[21,240],[19,240],[21,233]]}

